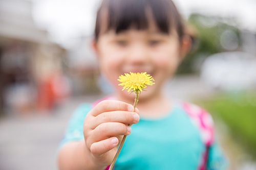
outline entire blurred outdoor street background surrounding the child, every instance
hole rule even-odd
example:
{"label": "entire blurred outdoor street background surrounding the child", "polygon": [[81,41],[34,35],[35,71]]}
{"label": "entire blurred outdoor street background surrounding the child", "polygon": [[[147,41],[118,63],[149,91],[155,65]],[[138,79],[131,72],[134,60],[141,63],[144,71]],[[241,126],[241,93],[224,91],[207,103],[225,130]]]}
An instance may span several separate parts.
{"label": "entire blurred outdoor street background surrounding the child", "polygon": [[[1,170],[57,169],[72,111],[111,93],[90,47],[100,2],[0,0]],[[212,114],[230,169],[256,169],[256,1],[174,2],[193,48],[166,95]]]}

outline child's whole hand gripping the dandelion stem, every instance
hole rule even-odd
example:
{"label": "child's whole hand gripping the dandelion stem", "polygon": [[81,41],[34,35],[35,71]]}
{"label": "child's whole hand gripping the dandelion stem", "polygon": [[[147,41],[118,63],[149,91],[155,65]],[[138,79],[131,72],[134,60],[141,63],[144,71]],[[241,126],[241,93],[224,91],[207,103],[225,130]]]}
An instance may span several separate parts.
{"label": "child's whole hand gripping the dandelion stem", "polygon": [[139,122],[139,110],[120,101],[102,101],[86,116],[83,135],[88,154],[96,164],[111,164],[123,135],[131,133],[128,124]]}

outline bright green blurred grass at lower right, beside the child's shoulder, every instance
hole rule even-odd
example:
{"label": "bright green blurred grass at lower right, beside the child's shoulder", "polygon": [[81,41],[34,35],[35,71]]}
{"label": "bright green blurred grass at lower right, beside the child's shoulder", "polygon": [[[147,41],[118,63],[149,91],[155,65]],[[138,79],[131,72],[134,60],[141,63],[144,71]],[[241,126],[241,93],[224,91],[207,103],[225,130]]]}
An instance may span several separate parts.
{"label": "bright green blurred grass at lower right, beside the child's shoulder", "polygon": [[220,118],[228,127],[234,140],[256,158],[256,95],[223,95],[196,102],[211,115]]}

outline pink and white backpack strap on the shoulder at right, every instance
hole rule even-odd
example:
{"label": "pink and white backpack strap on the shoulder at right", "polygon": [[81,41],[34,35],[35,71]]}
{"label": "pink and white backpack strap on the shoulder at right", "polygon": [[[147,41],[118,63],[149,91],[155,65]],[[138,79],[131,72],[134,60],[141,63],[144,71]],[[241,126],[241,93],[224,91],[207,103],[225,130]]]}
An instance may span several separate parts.
{"label": "pink and white backpack strap on the shoulder at right", "polygon": [[198,128],[201,139],[206,146],[198,167],[199,170],[204,170],[207,166],[209,147],[214,142],[214,121],[206,110],[197,105],[182,102],[182,106],[191,122]]}

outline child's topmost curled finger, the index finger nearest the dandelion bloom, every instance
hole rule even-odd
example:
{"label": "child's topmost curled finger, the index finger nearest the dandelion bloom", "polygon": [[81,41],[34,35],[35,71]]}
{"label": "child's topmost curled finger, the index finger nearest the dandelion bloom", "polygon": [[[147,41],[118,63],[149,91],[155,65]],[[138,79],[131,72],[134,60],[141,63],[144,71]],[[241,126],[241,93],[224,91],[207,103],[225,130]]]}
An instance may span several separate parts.
{"label": "child's topmost curled finger, the index finger nearest the dandelion bloom", "polygon": [[109,112],[109,111],[130,111],[134,112],[134,107],[130,104],[120,102],[120,101],[101,101],[99,104],[97,104],[93,110],[91,110],[91,114],[93,116],[97,116],[103,112]]}

